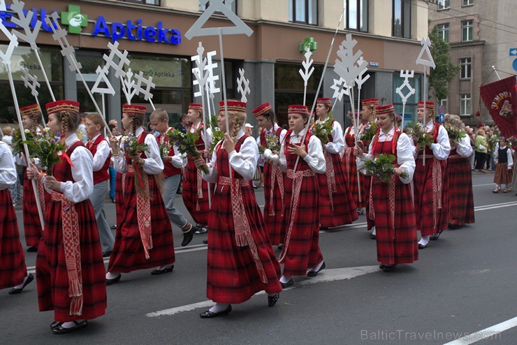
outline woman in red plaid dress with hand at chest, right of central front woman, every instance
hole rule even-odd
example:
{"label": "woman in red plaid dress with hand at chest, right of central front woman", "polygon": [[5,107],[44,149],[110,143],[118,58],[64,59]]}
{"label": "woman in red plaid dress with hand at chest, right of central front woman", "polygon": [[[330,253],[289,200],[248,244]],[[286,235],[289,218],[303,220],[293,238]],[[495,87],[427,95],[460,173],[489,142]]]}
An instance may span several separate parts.
{"label": "woman in red plaid dress with hand at chest, right of central front woman", "polygon": [[[280,263],[284,272],[280,278],[283,288],[293,285],[292,276],[316,277],[325,268],[319,249],[319,193],[316,174],[325,172],[325,156],[321,141],[310,132],[306,134],[309,110],[305,105],[289,105],[290,131],[282,142],[279,168],[286,171],[284,211],[286,226]],[[298,166],[293,170],[296,161]],[[311,269],[310,272],[307,272]]]}

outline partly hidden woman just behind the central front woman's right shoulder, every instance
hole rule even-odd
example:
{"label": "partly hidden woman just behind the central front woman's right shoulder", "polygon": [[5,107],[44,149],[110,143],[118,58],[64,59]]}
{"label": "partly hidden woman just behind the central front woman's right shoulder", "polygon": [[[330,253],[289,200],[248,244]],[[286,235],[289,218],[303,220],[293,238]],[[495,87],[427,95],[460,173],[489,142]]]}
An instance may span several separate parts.
{"label": "partly hidden woman just behind the central front woman's right shoulder", "polygon": [[[275,122],[275,112],[270,103],[259,105],[253,110],[258,126],[261,127],[261,134],[256,139],[256,143],[267,149],[277,146],[284,142],[287,131],[278,126]],[[278,151],[271,150],[272,154],[279,154]],[[262,155],[261,159],[265,159]],[[272,245],[278,246],[284,243],[282,234],[282,224],[284,223],[284,179],[285,173],[280,171],[276,164],[270,159],[264,161],[264,221],[268,229],[269,240]]]}

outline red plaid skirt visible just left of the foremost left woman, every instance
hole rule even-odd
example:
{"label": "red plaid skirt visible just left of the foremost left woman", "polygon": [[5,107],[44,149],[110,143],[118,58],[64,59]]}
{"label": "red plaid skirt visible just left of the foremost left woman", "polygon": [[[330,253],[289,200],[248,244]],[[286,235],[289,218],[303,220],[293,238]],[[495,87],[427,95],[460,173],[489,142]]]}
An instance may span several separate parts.
{"label": "red plaid skirt visible just left of the foremost left woman", "polygon": [[[36,182],[39,183],[39,182]],[[50,200],[50,194],[45,193],[45,203]],[[27,170],[23,179],[23,230],[25,233],[25,243],[27,247],[38,247],[43,230],[41,229],[38,206],[32,182],[27,178]]]}

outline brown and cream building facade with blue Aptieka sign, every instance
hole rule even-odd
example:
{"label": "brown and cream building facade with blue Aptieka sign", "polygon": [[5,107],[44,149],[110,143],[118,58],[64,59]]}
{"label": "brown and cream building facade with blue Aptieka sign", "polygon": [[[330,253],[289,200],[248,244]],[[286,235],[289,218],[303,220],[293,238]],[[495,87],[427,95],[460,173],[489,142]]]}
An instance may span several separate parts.
{"label": "brown and cream building facade with blue Aptieka sign", "polygon": [[[9,1],[8,1],[9,2]],[[304,83],[298,70],[302,68],[303,45],[309,43],[313,51],[314,73],[307,83],[307,106],[311,108],[316,97],[323,67],[333,40],[340,15],[343,12],[328,68],[317,96],[333,96],[335,79],[333,71],[336,51],[345,34],[353,34],[355,49],[363,51],[368,61],[370,78],[361,88],[361,99],[377,97],[383,103],[395,103],[402,110],[400,97],[395,88],[402,84],[401,70],[415,70],[411,83],[416,95],[409,98],[406,113],[414,114],[416,102],[422,96],[422,78],[415,61],[421,50],[420,39],[428,32],[428,2],[424,0],[225,0],[228,10],[237,14],[254,31],[252,36],[224,36],[224,61],[228,98],[237,98],[239,69],[245,69],[245,77],[251,83],[248,111],[261,103],[270,102],[276,110],[279,122],[286,123],[289,104],[303,103]],[[143,72],[152,76],[156,85],[152,101],[156,108],[165,108],[173,115],[187,111],[197,87],[193,87],[191,56],[196,55],[198,43],[205,52],[215,50],[214,62],[220,67],[219,38],[198,37],[189,41],[184,34],[210,5],[205,0],[26,0],[25,8],[43,19],[37,37],[41,60],[45,66],[56,98],[77,99],[82,110],[94,111],[94,105],[80,75],[68,68],[68,61],[61,55],[59,43],[52,38],[50,27],[44,18],[52,12],[60,17],[61,27],[68,31],[68,42],[75,48],[75,57],[82,65],[81,71],[91,89],[97,78],[96,69],[103,66],[103,54],[108,54],[108,43],[117,41],[119,50],[127,50],[133,73]],[[223,11],[224,12],[224,11]],[[233,25],[223,12],[217,12],[205,27]],[[8,29],[17,29],[11,22],[13,11],[0,12]],[[75,21],[74,21],[75,19]],[[33,20],[35,22],[35,20]],[[33,23],[34,24],[34,23]],[[0,48],[6,49],[5,36],[0,37]],[[217,59],[216,59],[217,58]],[[43,73],[29,45],[20,42],[12,59],[12,70],[20,106],[34,103],[30,90],[23,86],[21,68],[28,68],[41,83],[39,100],[50,101]],[[15,122],[15,108],[10,94],[5,69],[0,67],[0,122]],[[219,69],[215,70],[219,73]],[[126,103],[119,80],[110,70],[108,81],[115,89],[115,96],[105,96],[105,113],[108,119],[119,119],[122,103]],[[101,84],[102,86],[102,84]],[[220,85],[218,85],[220,87]],[[354,92],[357,98],[358,90]],[[95,96],[99,107],[101,95]],[[214,103],[217,106],[217,94]],[[132,103],[147,105],[143,98],[134,97]],[[357,106],[357,101],[355,101]],[[350,109],[350,101],[344,96],[337,102],[334,116],[342,124],[347,122],[344,113]],[[213,112],[213,110],[212,110]],[[252,116],[249,122],[254,123]]]}

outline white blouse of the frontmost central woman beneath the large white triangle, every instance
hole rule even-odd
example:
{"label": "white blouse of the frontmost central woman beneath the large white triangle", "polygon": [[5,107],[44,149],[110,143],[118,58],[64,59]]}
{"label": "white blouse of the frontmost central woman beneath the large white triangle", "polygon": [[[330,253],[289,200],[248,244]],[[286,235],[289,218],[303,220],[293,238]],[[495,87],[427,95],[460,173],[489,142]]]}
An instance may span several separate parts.
{"label": "white blouse of the frontmost central woman beneath the large white triangle", "polygon": [[[237,134],[237,140],[242,138],[244,135],[244,131],[241,129]],[[235,140],[235,142],[237,141]],[[224,149],[223,146],[224,140],[221,140],[217,143],[216,149],[212,153],[212,159],[210,163],[208,163],[208,174],[203,173],[203,179],[207,182],[215,183],[217,182],[217,168],[214,166],[217,161],[217,149]],[[248,137],[242,142],[240,145],[239,152],[233,150],[228,154],[228,159],[230,161],[230,165],[244,178],[249,181],[253,179],[256,170],[256,162],[258,161],[258,145],[256,145],[255,139],[253,137]]]}

